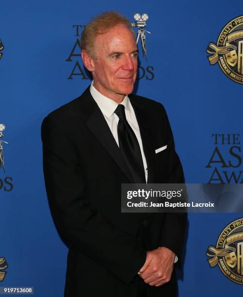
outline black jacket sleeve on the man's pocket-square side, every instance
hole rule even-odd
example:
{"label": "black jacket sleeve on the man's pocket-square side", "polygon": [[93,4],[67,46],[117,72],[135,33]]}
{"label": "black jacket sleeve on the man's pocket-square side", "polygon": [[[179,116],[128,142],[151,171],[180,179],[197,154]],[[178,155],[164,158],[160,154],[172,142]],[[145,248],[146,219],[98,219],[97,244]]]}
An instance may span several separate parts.
{"label": "black jacket sleeve on the man's pocket-square side", "polygon": [[[184,174],[182,165],[180,163],[178,154],[175,151],[175,144],[173,134],[171,131],[170,123],[165,112],[164,107],[160,104],[162,111],[163,124],[166,131],[168,131],[168,171],[167,183],[184,183]],[[185,233],[187,227],[187,214],[186,213],[166,213],[161,238],[160,247],[167,247],[172,250],[177,256],[178,261],[181,260],[181,254],[185,242]]]}

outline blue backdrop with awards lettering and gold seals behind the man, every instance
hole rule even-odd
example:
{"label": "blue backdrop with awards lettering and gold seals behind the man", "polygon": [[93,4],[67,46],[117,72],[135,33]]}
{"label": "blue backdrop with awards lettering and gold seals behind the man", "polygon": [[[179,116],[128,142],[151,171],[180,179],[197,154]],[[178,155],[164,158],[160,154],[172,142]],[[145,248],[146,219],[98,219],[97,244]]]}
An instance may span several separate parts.
{"label": "blue backdrop with awards lettering and gold seals behind the man", "polygon": [[[67,247],[46,197],[40,127],[91,83],[80,36],[118,10],[138,39],[134,93],[162,102],[187,183],[243,183],[243,3],[53,0],[0,4],[0,287],[63,296]],[[140,25],[139,25],[140,24]],[[65,125],[65,119],[64,119]],[[243,292],[243,214],[189,214],[179,297]]]}

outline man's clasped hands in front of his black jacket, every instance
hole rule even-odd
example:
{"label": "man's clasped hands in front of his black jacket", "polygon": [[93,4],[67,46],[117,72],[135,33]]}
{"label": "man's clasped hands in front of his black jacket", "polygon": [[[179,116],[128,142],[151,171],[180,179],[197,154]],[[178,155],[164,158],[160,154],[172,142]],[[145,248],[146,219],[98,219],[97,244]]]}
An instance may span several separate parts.
{"label": "man's clasped hands in front of his black jacket", "polygon": [[159,287],[170,281],[175,254],[166,247],[147,252],[146,262],[139,270],[139,276],[150,286]]}

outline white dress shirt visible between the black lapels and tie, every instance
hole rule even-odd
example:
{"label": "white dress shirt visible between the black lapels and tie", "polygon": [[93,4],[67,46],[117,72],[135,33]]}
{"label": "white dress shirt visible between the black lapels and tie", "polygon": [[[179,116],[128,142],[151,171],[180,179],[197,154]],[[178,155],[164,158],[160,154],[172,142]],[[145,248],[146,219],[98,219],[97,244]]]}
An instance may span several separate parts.
{"label": "white dress shirt visible between the black lapels and tie", "polygon": [[[100,94],[97,91],[97,89],[93,86],[93,82],[91,83],[91,86],[90,86],[90,93],[91,93],[92,97],[95,99],[96,103],[98,104],[98,107],[101,110],[102,114],[104,115],[104,118],[107,121],[107,124],[113,134],[113,137],[114,137],[118,147],[119,147],[118,134],[117,134],[117,124],[119,121],[119,117],[118,117],[118,115],[116,115],[114,113],[118,104],[114,100],[109,99],[109,98],[105,97],[104,95]],[[132,108],[130,99],[128,98],[127,95],[125,96],[125,98],[123,99],[123,101],[120,104],[125,106],[125,115],[126,115],[127,121],[137,137],[139,147],[141,150],[141,154],[142,154],[142,158],[143,158],[145,178],[146,178],[146,182],[147,182],[147,163],[146,163],[142,138],[140,135],[140,130],[139,130],[138,122],[136,119],[136,115]]]}

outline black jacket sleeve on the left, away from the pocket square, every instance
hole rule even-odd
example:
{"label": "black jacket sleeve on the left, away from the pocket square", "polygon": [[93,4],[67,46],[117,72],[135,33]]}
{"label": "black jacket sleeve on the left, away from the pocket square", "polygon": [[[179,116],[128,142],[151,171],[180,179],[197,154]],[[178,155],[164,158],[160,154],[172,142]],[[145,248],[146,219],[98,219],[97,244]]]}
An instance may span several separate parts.
{"label": "black jacket sleeve on the left, away from the pocket square", "polygon": [[90,207],[75,144],[50,116],[42,123],[41,136],[46,191],[58,230],[72,246],[129,284],[145,263],[146,251]]}

